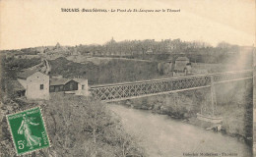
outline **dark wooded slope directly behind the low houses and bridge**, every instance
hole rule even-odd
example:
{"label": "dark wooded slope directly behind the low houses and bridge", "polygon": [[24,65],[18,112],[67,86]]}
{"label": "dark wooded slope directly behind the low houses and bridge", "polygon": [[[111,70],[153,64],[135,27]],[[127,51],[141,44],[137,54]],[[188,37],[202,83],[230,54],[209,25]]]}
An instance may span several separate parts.
{"label": "dark wooded slope directly behind the low houses and bridge", "polygon": [[128,80],[156,78],[159,76],[158,63],[112,60],[106,64],[95,65],[74,63],[65,58],[50,61],[51,75],[64,78],[83,77],[90,84],[110,83]]}

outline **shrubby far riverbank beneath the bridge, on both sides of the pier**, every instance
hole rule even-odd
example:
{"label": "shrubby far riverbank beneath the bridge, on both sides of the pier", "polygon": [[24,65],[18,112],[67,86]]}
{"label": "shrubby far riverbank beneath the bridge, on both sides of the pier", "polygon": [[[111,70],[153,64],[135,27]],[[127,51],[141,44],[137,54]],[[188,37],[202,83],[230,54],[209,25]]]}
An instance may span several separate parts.
{"label": "shrubby far riverbank beneath the bridge, on both sides of the pier", "polygon": [[[252,82],[217,85],[217,114],[223,117],[221,132],[252,145]],[[198,89],[120,101],[119,104],[168,115],[183,123],[208,129],[213,124],[200,121],[196,114],[211,104],[210,89]]]}

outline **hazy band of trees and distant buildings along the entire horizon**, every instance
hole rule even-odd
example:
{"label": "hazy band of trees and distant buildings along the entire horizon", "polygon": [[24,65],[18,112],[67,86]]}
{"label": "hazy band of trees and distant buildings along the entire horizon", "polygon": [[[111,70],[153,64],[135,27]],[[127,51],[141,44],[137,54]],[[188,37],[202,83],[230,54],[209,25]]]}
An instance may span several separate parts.
{"label": "hazy band of trees and distant buildings along the entire horizon", "polygon": [[164,39],[155,41],[124,40],[116,42],[111,39],[102,45],[76,45],[76,46],[41,46],[21,50],[6,50],[9,54],[56,54],[69,56],[72,54],[91,56],[126,57],[146,60],[165,60],[169,56],[176,58],[177,55],[187,56],[191,62],[197,63],[224,63],[226,59],[237,57],[243,51],[242,47],[220,42],[216,47],[205,42],[181,41],[178,39]]}

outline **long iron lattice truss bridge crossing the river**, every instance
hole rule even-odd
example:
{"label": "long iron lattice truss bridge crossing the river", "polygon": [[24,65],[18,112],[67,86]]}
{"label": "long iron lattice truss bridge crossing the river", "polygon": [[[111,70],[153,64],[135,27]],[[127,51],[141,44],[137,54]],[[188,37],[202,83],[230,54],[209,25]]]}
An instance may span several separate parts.
{"label": "long iron lattice truss bridge crossing the river", "polygon": [[211,81],[224,83],[242,79],[252,79],[252,70],[218,74],[190,76],[181,78],[160,78],[91,86],[91,93],[103,101],[119,101],[151,95],[166,94],[184,90],[210,87]]}

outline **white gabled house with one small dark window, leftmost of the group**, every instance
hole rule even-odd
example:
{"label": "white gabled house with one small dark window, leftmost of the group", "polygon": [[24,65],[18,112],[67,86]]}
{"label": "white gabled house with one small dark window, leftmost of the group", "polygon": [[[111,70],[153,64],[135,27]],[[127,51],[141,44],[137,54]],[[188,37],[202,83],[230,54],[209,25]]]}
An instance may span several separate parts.
{"label": "white gabled house with one small dark window, leftmost of the group", "polygon": [[49,76],[34,70],[18,74],[18,81],[25,88],[28,99],[49,99]]}

